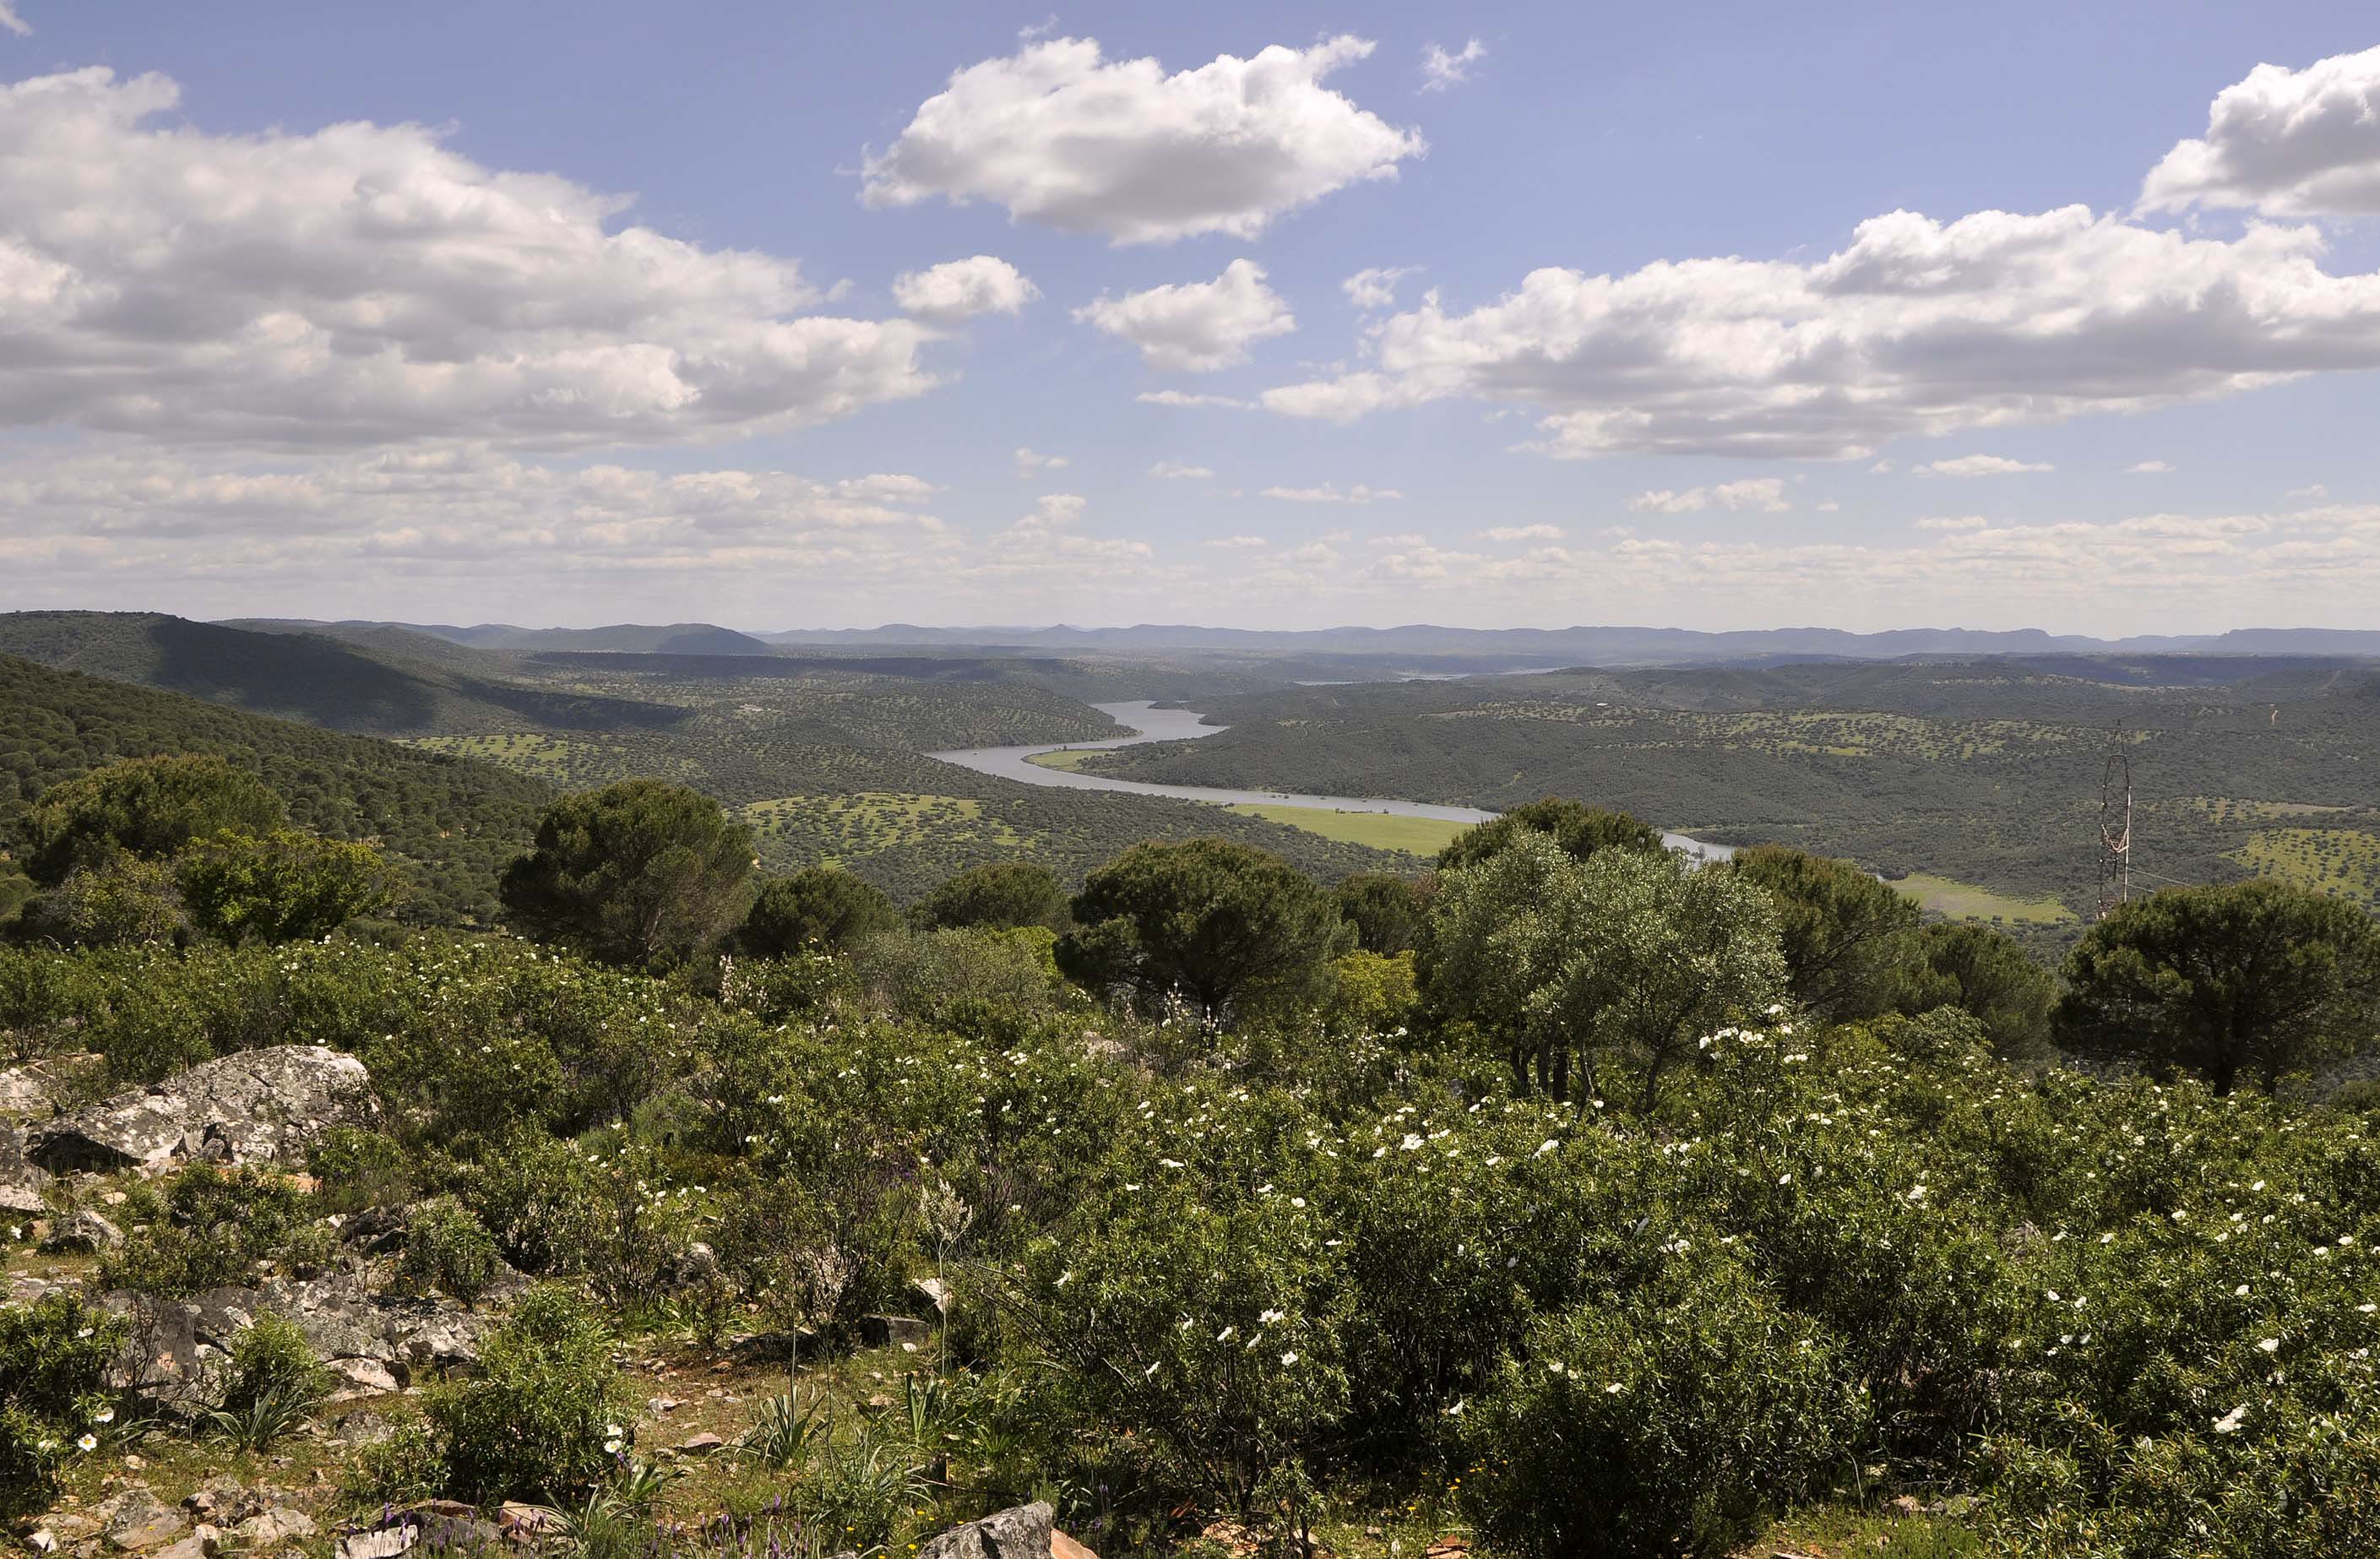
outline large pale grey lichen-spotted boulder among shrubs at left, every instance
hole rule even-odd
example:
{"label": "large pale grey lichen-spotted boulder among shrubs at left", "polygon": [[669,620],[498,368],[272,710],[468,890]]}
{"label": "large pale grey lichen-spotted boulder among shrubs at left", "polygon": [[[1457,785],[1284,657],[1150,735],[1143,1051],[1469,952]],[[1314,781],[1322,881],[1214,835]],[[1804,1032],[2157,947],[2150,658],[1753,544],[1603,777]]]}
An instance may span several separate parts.
{"label": "large pale grey lichen-spotted boulder among shrubs at left", "polygon": [[321,1045],[274,1045],[36,1126],[26,1157],[50,1173],[159,1173],[188,1159],[295,1162],[331,1126],[371,1112],[371,1076],[359,1059]]}

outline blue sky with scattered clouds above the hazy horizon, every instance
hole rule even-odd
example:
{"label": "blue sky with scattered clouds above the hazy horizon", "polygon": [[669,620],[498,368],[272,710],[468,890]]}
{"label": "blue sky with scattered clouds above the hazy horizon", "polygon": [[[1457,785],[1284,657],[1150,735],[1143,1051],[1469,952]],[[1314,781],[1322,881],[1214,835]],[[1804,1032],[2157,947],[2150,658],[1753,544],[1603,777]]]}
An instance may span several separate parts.
{"label": "blue sky with scattered clouds above the hazy horizon", "polygon": [[2380,14],[0,0],[0,609],[2380,628]]}

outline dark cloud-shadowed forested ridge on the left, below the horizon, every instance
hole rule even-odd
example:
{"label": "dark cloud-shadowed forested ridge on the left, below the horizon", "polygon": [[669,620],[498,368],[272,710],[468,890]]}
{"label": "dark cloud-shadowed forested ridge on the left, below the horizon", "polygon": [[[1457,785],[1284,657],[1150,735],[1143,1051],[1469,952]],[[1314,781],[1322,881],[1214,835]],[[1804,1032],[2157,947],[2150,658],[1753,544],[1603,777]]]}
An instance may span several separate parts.
{"label": "dark cloud-shadowed forested ridge on the left, below the horizon", "polygon": [[457,655],[471,652],[452,645],[440,645],[445,655],[431,650],[414,657],[402,643],[407,638],[419,636],[367,645],[321,633],[226,628],[159,612],[0,614],[0,655],[333,731],[654,731],[688,719],[678,707],[524,685],[500,674],[497,657],[483,657],[488,669],[474,671],[457,664]]}

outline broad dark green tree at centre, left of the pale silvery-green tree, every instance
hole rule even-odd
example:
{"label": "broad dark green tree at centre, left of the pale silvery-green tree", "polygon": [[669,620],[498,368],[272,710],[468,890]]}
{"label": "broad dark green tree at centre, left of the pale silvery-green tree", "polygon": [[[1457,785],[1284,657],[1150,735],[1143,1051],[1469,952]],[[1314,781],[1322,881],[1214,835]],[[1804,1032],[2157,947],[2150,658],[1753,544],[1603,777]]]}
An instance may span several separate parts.
{"label": "broad dark green tree at centre, left of the pale silvery-green tree", "polygon": [[1307,995],[1354,943],[1330,895],[1230,840],[1133,845],[1090,874],[1059,969],[1142,1004],[1188,997],[1209,1023]]}

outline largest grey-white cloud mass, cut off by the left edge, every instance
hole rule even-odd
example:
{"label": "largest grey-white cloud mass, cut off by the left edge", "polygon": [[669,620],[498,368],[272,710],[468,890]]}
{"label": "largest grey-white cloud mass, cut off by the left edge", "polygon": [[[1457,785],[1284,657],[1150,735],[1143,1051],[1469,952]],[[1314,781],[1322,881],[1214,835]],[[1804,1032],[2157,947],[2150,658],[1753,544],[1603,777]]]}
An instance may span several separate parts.
{"label": "largest grey-white cloud mass, cut off by the left edge", "polygon": [[0,88],[0,421],[566,447],[933,386],[923,326],[809,314],[790,259],[614,228],[626,202],[412,124],[212,136],[176,107],[107,69]]}

